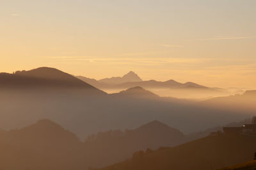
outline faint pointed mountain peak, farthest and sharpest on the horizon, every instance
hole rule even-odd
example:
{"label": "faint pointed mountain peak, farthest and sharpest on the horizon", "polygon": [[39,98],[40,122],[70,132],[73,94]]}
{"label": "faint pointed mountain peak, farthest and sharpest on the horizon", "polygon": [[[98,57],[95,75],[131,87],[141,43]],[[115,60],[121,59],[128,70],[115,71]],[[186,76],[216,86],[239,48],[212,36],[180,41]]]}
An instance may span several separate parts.
{"label": "faint pointed mountain peak, farthest and sharpest on the horizon", "polygon": [[134,72],[129,72],[123,77],[111,77],[106,79],[101,79],[99,82],[104,82],[106,84],[120,84],[124,82],[139,82],[142,79]]}

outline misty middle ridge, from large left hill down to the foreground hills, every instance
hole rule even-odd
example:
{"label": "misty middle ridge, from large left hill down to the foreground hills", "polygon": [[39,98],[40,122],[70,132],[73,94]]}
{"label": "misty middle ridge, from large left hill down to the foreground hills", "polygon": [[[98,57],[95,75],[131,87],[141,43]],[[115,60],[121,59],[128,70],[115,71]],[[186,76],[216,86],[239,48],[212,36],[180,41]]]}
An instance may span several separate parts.
{"label": "misty middle ridge, from large left hill down to the foreground hills", "polygon": [[84,139],[100,131],[159,120],[189,134],[253,114],[246,109],[214,109],[200,102],[159,97],[141,87],[107,94],[55,68],[1,73],[0,82],[0,128],[6,130],[47,118]]}

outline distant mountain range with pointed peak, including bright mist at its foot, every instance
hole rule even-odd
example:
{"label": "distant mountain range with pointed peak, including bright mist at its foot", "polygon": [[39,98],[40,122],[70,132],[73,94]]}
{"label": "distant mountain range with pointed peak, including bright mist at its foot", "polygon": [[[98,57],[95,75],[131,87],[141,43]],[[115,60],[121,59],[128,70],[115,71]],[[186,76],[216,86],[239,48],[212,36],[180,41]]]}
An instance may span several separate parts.
{"label": "distant mountain range with pointed peak, including bright mist at its foot", "polygon": [[108,93],[116,93],[127,88],[140,86],[141,88],[149,89],[162,97],[207,98],[227,96],[230,94],[227,89],[209,88],[194,82],[181,83],[172,79],[164,82],[155,80],[143,81],[134,72],[129,72],[123,77],[112,77],[101,79],[99,81],[83,76],[77,76],[77,78]]}

